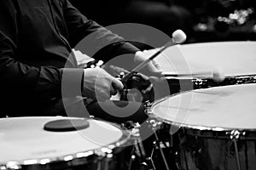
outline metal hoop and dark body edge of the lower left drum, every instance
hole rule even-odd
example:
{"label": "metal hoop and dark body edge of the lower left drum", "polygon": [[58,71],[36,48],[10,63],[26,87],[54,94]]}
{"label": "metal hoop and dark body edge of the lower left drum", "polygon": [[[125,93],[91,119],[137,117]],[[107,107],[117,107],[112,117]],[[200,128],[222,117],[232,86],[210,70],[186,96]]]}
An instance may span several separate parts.
{"label": "metal hoop and dark body edge of the lower left drum", "polygon": [[[102,121],[101,119],[93,118],[93,120]],[[111,169],[110,163],[115,161],[114,157],[119,157],[119,153],[125,150],[126,145],[132,144],[131,132],[120,127],[119,125],[108,122],[108,124],[118,127],[123,130],[121,138],[96,150],[82,150],[79,153],[73,153],[66,156],[58,156],[54,158],[40,158],[22,161],[8,161],[5,164],[0,163],[0,170],[13,169],[38,169],[38,170],[55,170],[55,169],[84,169],[84,166],[92,165],[97,170]],[[113,162],[114,163],[114,162]],[[113,165],[112,165],[113,166]],[[112,167],[113,168],[113,167]]]}

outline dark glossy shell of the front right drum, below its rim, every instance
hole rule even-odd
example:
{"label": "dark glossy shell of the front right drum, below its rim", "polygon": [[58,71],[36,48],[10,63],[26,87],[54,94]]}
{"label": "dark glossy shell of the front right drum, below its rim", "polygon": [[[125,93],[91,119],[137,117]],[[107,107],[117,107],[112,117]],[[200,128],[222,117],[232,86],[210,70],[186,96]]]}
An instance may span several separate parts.
{"label": "dark glossy shell of the front right drum, below its rim", "polygon": [[[170,134],[173,125],[163,122],[156,130],[166,160],[175,161],[180,170],[233,170],[237,168],[236,150],[230,131],[200,130],[180,127],[177,133]],[[175,125],[174,125],[175,126]],[[245,132],[245,131],[243,131]],[[256,167],[256,132],[247,131],[236,139],[241,169],[253,170]],[[175,153],[175,156],[173,156]],[[172,159],[171,159],[172,158]]]}

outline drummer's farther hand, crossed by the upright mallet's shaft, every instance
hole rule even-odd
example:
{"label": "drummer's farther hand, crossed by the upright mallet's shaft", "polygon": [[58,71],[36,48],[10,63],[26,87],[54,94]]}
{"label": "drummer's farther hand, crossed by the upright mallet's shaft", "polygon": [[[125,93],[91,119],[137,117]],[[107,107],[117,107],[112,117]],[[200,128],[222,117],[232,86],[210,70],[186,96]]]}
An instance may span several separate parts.
{"label": "drummer's farther hand, crossed by the upright mallet's shaft", "polygon": [[[144,60],[148,59],[147,55],[143,53],[142,51],[138,51],[135,54],[134,62],[136,65],[139,65],[142,63]],[[143,74],[151,77],[160,77],[162,74],[162,71],[160,70],[160,65],[158,65],[154,59],[148,63],[141,71]]]}

